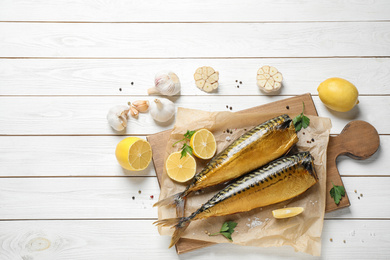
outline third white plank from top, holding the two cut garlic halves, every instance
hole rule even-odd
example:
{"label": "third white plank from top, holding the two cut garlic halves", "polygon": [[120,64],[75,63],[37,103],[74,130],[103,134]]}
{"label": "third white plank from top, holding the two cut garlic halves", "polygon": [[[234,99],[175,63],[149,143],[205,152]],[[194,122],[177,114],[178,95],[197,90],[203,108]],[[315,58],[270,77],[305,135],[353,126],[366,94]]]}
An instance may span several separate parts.
{"label": "third white plank from top, holding the two cut garlic halves", "polygon": [[218,94],[257,96],[264,94],[256,73],[266,64],[283,73],[281,95],[317,95],[317,86],[330,77],[351,81],[360,95],[390,94],[389,58],[251,58],[0,59],[0,95],[145,95],[155,73],[170,69],[180,78],[181,95],[207,96],[195,87],[193,74],[209,65],[220,73]]}

